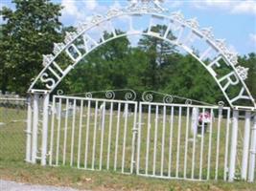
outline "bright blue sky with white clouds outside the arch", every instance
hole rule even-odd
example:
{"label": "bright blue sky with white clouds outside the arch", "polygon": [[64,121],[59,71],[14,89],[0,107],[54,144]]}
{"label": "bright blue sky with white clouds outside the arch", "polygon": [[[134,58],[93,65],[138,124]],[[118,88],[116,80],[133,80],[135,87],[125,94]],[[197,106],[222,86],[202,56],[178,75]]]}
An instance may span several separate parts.
{"label": "bright blue sky with white clouds outside the arch", "polygon": [[[0,0],[14,8],[12,0]],[[77,26],[94,14],[105,14],[112,7],[128,6],[128,0],[52,0],[64,9],[60,21]],[[225,39],[230,49],[239,53],[256,53],[256,0],[165,0],[163,7],[181,11],[187,19],[197,17],[200,27],[212,27],[216,38]],[[0,23],[3,20],[0,19]]]}

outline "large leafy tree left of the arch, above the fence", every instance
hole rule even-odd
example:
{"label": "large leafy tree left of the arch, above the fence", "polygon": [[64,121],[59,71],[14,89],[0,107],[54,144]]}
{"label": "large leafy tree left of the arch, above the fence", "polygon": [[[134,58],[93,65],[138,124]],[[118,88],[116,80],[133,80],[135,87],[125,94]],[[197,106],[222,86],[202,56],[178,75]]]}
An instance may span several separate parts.
{"label": "large leafy tree left of the arch, above the fence", "polygon": [[61,38],[61,6],[50,0],[12,3],[14,11],[6,7],[0,11],[6,21],[0,41],[0,88],[24,94],[43,68],[42,54],[51,53],[53,42]]}

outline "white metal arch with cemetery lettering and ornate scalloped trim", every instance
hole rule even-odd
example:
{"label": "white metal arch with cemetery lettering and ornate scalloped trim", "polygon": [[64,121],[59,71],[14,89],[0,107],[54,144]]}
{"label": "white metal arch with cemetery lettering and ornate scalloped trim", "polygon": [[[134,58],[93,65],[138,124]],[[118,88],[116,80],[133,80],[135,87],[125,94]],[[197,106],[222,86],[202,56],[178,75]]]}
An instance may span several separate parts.
{"label": "white metal arch with cemetery lettering and ornate scalloped trim", "polygon": [[[146,31],[135,29],[133,22],[134,17],[143,16],[145,19],[141,25],[146,25]],[[118,19],[127,26],[127,32],[120,32],[116,24]],[[154,32],[152,27],[155,24],[165,25],[165,32]],[[106,36],[105,32],[110,35]],[[170,37],[171,32],[175,39]],[[237,53],[230,52],[224,40],[215,39],[211,28],[200,28],[197,19],[187,20],[179,11],[164,10],[159,1],[139,1],[130,3],[125,9],[110,9],[105,16],[96,15],[89,22],[81,24],[76,32],[67,32],[63,43],[54,44],[53,54],[43,55],[44,69],[35,78],[29,92],[51,93],[88,53],[113,39],[137,34],[165,40],[193,55],[213,76],[231,107],[240,107],[237,103],[243,100],[247,107],[256,108],[255,100],[244,83],[248,69],[238,66]],[[200,50],[199,53],[194,51],[195,48]],[[63,65],[59,61],[63,54],[68,56],[68,64]],[[222,67],[228,68],[229,72],[218,74],[216,69]],[[240,91],[237,96],[228,94],[229,89],[238,87]]]}

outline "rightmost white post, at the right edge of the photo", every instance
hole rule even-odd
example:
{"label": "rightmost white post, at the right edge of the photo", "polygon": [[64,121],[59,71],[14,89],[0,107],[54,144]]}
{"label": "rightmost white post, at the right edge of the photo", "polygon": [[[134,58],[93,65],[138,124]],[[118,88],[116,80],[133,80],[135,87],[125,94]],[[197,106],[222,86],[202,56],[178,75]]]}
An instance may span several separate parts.
{"label": "rightmost white post, at the right edge of the photo", "polygon": [[256,115],[254,115],[254,124],[251,131],[251,144],[250,144],[250,154],[249,154],[249,172],[248,181],[254,180],[254,170],[255,170],[255,154],[256,154]]}

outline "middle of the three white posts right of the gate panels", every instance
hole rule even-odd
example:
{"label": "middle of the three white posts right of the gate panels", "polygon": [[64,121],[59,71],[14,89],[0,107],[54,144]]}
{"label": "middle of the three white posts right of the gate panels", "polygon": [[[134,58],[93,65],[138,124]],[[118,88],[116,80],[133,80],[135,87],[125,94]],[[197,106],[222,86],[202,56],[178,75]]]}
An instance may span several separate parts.
{"label": "middle of the three white posts right of the gate panels", "polygon": [[243,147],[243,160],[242,160],[242,172],[241,178],[247,179],[247,167],[248,167],[248,153],[249,153],[249,136],[250,135],[250,112],[245,112],[244,122],[244,147]]}

